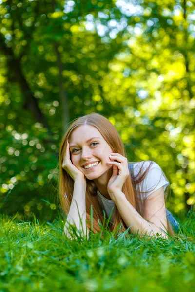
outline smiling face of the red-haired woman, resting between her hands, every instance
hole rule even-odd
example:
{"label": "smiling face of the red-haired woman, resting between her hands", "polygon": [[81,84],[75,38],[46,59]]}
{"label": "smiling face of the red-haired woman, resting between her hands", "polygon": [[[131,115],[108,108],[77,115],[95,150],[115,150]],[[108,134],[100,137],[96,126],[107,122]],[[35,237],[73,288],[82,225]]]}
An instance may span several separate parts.
{"label": "smiling face of the red-haired woman, resting between her hands", "polygon": [[[75,129],[69,137],[69,145],[72,163],[87,179],[99,178],[112,167],[107,161],[111,161],[109,155],[113,151],[95,127],[84,125]],[[89,162],[98,164],[91,169],[85,169],[83,164]]]}

